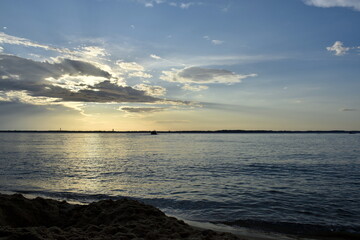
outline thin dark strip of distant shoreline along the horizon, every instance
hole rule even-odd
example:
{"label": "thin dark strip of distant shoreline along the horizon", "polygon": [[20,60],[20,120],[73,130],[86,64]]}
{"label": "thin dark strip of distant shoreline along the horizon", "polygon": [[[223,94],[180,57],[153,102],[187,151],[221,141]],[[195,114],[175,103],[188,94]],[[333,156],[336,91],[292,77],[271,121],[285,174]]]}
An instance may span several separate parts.
{"label": "thin dark strip of distant shoreline along the horizon", "polygon": [[[151,131],[75,131],[75,130],[0,130],[0,133],[150,133]],[[309,131],[290,131],[290,130],[214,130],[214,131],[157,131],[157,133],[199,133],[199,134],[216,134],[216,133],[254,133],[254,134],[359,134],[360,131],[347,130],[309,130]]]}

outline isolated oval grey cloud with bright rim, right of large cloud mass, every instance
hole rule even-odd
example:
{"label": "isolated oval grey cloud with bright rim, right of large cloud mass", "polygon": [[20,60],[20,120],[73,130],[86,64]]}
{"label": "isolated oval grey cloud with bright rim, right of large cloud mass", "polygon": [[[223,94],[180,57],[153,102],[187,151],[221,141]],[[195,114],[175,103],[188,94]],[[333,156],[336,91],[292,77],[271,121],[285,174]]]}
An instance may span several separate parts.
{"label": "isolated oval grey cloud with bright rim, right of large cloud mass", "polygon": [[163,71],[160,79],[168,82],[211,84],[232,84],[241,82],[248,77],[256,77],[257,74],[240,75],[223,69],[211,69],[201,67],[189,67],[181,70]]}

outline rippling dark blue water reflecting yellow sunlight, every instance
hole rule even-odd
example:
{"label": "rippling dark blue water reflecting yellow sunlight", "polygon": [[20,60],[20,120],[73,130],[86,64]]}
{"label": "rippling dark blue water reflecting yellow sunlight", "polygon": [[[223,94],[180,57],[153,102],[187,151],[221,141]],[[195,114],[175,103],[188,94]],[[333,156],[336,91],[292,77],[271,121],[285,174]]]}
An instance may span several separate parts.
{"label": "rippling dark blue water reflecting yellow sunlight", "polygon": [[0,133],[0,191],[125,196],[188,220],[360,233],[359,146],[359,134]]}

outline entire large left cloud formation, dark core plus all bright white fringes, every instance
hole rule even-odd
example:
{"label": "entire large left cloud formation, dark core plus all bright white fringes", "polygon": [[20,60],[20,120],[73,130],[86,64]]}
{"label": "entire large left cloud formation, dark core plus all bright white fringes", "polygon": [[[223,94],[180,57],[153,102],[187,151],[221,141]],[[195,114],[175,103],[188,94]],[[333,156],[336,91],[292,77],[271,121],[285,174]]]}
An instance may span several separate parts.
{"label": "entire large left cloud formation, dark core plus all bright white fringes", "polygon": [[[192,102],[159,98],[166,94],[166,88],[162,86],[145,83],[133,87],[126,86],[124,81],[126,78],[153,76],[137,62],[111,62],[108,59],[110,54],[100,46],[83,45],[69,50],[38,44],[7,34],[0,34],[0,44],[37,47],[60,53],[51,58],[32,55],[33,59],[0,53],[0,105],[69,109],[82,114],[85,114],[85,107],[93,103],[156,106],[150,110],[142,110],[143,112],[195,106]],[[1,47],[0,50],[3,48]],[[154,62],[164,61],[155,54],[151,54],[150,57],[160,60]]]}

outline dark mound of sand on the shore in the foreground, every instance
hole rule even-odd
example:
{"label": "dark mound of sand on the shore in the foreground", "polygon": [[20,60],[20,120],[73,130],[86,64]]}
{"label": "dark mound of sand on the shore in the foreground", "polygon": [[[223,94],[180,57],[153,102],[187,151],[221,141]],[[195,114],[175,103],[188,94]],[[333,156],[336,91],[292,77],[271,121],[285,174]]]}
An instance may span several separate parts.
{"label": "dark mound of sand on the shore in the foreground", "polygon": [[195,229],[135,200],[72,205],[0,194],[0,239],[238,239]]}

